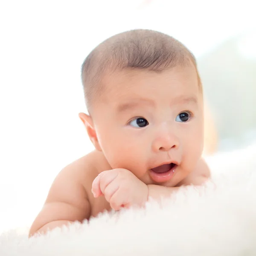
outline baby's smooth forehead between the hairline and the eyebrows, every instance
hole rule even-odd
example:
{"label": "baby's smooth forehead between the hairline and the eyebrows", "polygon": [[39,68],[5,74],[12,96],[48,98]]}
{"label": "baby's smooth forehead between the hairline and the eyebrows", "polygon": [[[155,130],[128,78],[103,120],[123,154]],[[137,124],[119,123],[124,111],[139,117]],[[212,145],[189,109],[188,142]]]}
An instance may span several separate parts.
{"label": "baby's smooth forehead between the hairline and the eyebrows", "polygon": [[195,69],[177,68],[159,73],[119,70],[106,75],[103,84],[102,100],[109,105],[123,105],[121,109],[131,105],[158,105],[163,100],[196,102],[199,93]]}

